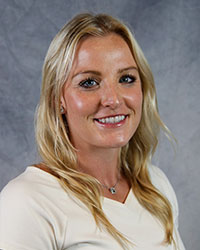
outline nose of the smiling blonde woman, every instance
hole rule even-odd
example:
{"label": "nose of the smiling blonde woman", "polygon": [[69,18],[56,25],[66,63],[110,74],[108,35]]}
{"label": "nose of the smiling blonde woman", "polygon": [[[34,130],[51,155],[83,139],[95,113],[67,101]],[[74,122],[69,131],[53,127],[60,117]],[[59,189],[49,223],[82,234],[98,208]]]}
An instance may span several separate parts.
{"label": "nose of the smiling blonde woman", "polygon": [[105,84],[102,89],[101,104],[104,107],[116,109],[122,101],[120,90],[116,83]]}

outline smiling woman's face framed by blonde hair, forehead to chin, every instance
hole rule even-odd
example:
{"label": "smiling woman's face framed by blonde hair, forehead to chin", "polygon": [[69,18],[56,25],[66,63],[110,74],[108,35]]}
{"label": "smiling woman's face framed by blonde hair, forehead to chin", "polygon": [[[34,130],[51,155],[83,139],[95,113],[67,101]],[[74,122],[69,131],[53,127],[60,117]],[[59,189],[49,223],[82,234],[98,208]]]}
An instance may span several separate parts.
{"label": "smiling woman's face framed by blonde hair, forehead to chin", "polygon": [[142,90],[135,60],[119,35],[79,43],[61,103],[75,148],[128,143],[140,122]]}

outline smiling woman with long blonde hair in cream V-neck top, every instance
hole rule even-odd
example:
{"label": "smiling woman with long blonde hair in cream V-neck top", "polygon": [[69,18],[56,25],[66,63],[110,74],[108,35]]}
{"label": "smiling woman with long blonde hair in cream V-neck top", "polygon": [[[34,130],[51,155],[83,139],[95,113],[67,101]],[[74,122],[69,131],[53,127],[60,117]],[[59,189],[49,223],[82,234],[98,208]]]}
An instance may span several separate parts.
{"label": "smiling woman with long blonde hair in cream V-neck top", "polygon": [[0,248],[184,249],[178,206],[151,165],[153,76],[129,29],[81,14],[52,41],[36,117],[40,164],[1,193]]}

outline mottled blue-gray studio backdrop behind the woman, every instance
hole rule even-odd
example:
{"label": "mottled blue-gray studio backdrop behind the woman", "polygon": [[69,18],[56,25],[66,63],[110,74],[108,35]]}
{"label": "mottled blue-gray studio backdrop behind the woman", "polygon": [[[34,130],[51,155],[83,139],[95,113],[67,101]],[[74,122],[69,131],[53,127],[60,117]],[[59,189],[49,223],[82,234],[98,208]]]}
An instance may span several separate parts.
{"label": "mottled blue-gray studio backdrop behind the woman", "polygon": [[80,11],[105,12],[134,30],[155,76],[162,119],[176,136],[176,155],[162,138],[154,162],[180,206],[187,249],[200,244],[200,1],[0,0],[0,190],[38,161],[34,110],[48,45]]}

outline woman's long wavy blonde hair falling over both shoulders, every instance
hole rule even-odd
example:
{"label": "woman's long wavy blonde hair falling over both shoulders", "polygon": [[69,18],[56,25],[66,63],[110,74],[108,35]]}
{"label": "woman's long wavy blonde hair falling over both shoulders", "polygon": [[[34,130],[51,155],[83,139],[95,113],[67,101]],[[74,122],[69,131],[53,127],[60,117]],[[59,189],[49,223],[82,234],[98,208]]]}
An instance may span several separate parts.
{"label": "woman's long wavy blonde hair falling over both shoulders", "polygon": [[61,94],[69,75],[77,44],[87,36],[116,33],[128,44],[142,82],[143,110],[140,124],[121,148],[121,170],[140,204],[156,216],[165,229],[165,242],[173,241],[173,216],[169,201],[151,183],[148,163],[158,144],[160,128],[168,133],[157,109],[154,79],[148,63],[130,30],[111,16],[80,14],[55,36],[43,66],[40,102],[36,113],[36,141],[43,162],[58,177],[68,193],[75,195],[91,211],[98,227],[105,229],[121,244],[125,237],[108,221],[101,205],[101,188],[92,176],[77,171],[76,149],[68,137],[67,121],[60,113]]}

